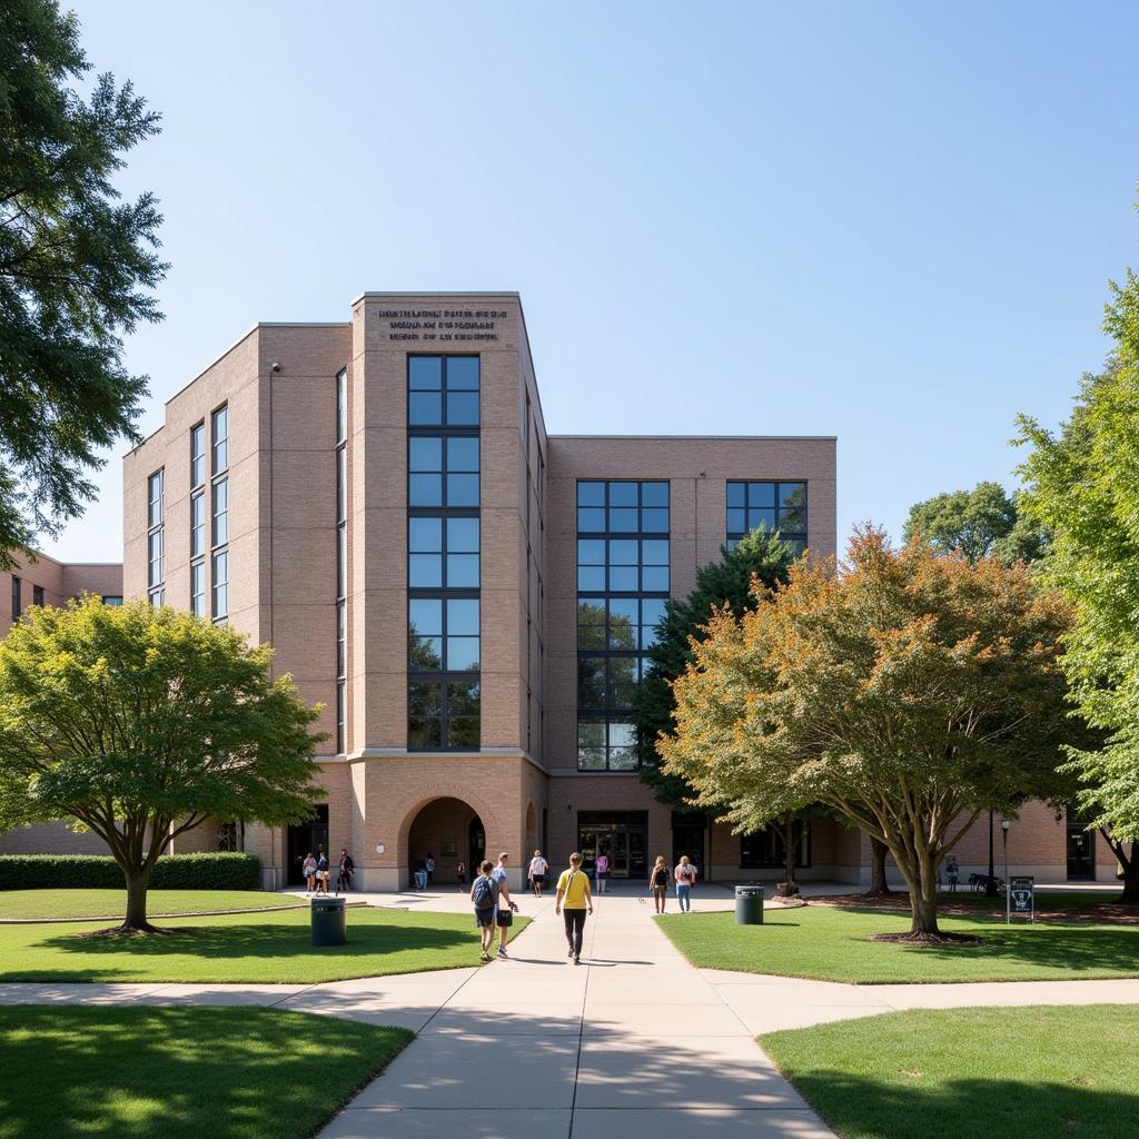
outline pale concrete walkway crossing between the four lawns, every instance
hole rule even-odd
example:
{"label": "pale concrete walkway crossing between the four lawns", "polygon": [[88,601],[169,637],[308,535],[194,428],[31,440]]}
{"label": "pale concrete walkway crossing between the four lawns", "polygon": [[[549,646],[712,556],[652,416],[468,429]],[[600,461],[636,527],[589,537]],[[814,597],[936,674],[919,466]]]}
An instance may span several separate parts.
{"label": "pale concrete walkway crossing between the four lawns", "polygon": [[522,902],[535,920],[517,953],[482,969],[319,985],[7,984],[0,1003],[272,1005],[417,1032],[323,1139],[673,1139],[696,1129],[823,1139],[833,1133],[756,1034],[904,1008],[1139,1003],[1139,980],[846,985],[697,970],[631,895],[598,900],[574,967],[552,903]]}

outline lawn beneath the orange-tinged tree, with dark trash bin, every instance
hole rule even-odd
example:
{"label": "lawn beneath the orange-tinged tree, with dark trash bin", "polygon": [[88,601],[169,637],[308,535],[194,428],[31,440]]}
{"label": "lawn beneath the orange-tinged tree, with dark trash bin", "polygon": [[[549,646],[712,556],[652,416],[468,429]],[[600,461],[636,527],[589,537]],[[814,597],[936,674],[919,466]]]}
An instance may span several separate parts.
{"label": "lawn beneath the orange-tinged tree, with dark trash bin", "polygon": [[919,947],[868,940],[903,933],[909,915],[827,906],[768,910],[761,926],[737,926],[731,911],[656,920],[693,965],[711,969],[854,984],[1139,976],[1134,925],[942,918],[942,929],[978,935],[981,944]]}

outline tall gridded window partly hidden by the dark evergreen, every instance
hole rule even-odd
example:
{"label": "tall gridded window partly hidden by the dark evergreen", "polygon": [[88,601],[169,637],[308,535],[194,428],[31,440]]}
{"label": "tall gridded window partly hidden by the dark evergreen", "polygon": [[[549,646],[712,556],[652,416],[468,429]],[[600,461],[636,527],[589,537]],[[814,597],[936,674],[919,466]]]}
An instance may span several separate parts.
{"label": "tall gridded window partly hidden by the dark evergreen", "polygon": [[632,705],[669,597],[669,484],[577,483],[577,768],[638,767]]}

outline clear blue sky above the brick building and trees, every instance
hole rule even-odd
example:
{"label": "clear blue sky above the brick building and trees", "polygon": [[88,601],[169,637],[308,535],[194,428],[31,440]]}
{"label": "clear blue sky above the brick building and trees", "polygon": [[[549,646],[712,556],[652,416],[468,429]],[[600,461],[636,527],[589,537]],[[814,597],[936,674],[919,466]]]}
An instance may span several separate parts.
{"label": "clear blue sky above the brick building and trees", "polygon": [[[835,434],[839,538],[1013,484],[1139,265],[1139,6],[77,5],[165,120],[163,401],[257,320],[518,289],[555,433]],[[121,556],[117,456],[49,552]]]}

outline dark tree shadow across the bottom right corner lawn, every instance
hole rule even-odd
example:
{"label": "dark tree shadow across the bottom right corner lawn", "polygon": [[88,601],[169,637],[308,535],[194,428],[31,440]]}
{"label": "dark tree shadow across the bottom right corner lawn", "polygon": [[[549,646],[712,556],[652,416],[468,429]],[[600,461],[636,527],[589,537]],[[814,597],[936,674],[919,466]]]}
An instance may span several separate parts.
{"label": "dark tree shadow across the bottom right corner lawn", "polygon": [[[915,1062],[919,1064],[919,1060]],[[1076,1083],[1009,1079],[993,1057],[991,1080],[959,1079],[912,1087],[817,1068],[794,1076],[795,1088],[839,1134],[888,1139],[1023,1139],[1076,1134],[1139,1139],[1139,1096]],[[917,1072],[917,1068],[913,1070]],[[1089,1077],[1089,1083],[1095,1074]]]}

